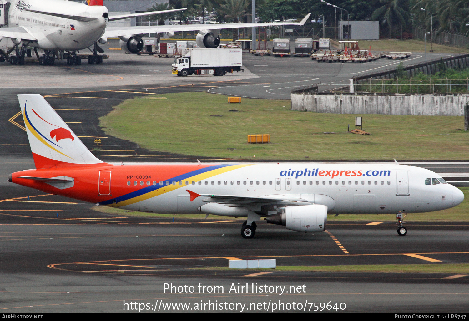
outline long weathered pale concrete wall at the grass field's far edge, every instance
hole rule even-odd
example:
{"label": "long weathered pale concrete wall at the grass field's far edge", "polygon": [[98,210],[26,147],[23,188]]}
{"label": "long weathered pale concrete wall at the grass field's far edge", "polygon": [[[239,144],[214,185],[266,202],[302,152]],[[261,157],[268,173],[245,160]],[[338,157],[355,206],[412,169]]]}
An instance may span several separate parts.
{"label": "long weathered pale concrete wall at the grass field's far edge", "polygon": [[333,114],[462,116],[469,94],[292,93],[292,110]]}

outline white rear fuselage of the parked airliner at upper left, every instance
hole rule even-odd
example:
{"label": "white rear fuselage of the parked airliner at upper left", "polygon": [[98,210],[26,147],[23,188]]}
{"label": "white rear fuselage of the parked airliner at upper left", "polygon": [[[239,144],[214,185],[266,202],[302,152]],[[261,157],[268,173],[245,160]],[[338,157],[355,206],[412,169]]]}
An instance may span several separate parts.
{"label": "white rear fuselage of the parked airliner at upper left", "polygon": [[[25,9],[96,18],[89,22],[30,12]],[[45,50],[81,50],[92,46],[104,34],[107,8],[63,0],[13,0],[8,10],[8,27],[24,27],[38,40],[29,46]],[[106,15],[107,16],[107,15]]]}

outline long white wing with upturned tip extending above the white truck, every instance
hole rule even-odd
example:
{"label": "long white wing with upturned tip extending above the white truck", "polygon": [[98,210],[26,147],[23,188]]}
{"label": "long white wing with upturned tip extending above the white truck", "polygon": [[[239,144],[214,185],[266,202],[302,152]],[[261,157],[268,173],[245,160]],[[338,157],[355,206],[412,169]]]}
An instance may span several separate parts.
{"label": "long white wing with upturned tip extending above the white truck", "polygon": [[106,28],[103,38],[112,38],[126,35],[139,35],[153,32],[177,32],[177,31],[195,31],[195,30],[220,30],[231,28],[249,28],[249,27],[272,27],[281,25],[302,26],[310,13],[306,15],[299,23],[278,22],[278,23],[212,23],[212,24],[174,24],[171,26],[141,26],[141,27],[109,27]]}

